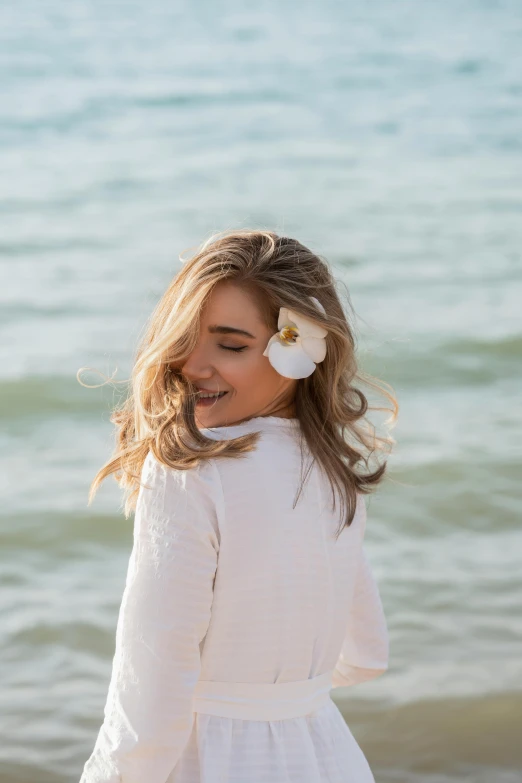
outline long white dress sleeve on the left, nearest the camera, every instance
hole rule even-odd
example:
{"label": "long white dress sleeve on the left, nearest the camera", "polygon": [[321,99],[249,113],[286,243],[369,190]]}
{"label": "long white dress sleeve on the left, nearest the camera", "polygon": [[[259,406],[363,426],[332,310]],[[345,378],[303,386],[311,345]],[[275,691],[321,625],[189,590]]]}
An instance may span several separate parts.
{"label": "long white dress sleeve on the left, nearest the camera", "polygon": [[193,726],[219,553],[219,475],[212,460],[173,470],[149,452],[141,477],[104,720],[80,783],[165,783]]}

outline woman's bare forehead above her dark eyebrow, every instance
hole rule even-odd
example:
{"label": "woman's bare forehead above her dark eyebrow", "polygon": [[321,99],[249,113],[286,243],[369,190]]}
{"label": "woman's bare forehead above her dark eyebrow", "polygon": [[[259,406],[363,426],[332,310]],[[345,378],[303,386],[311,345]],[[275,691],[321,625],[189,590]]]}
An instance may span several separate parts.
{"label": "woman's bare forehead above her dark eyebrow", "polygon": [[[262,324],[262,312],[255,296],[233,283],[218,283],[205,303],[201,322],[248,328]],[[233,322],[233,323],[232,323]]]}

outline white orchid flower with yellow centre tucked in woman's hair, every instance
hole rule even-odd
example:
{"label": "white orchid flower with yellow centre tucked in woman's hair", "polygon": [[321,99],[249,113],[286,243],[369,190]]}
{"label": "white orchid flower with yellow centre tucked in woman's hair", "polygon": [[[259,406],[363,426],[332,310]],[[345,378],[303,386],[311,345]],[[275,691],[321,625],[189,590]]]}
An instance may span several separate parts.
{"label": "white orchid flower with yellow centre tucked in woman's hair", "polygon": [[[326,315],[321,302],[310,299]],[[279,329],[263,352],[272,367],[285,378],[308,378],[326,356],[326,329],[287,307],[279,309]]]}

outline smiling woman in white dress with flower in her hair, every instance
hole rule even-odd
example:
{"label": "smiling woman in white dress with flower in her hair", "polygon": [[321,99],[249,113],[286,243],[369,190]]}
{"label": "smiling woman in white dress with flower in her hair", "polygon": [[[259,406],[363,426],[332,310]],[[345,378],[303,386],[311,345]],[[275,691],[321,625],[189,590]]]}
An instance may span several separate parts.
{"label": "smiling woman in white dress with flower in her hair", "polygon": [[357,375],[328,265],[296,240],[226,232],[184,263],[89,497],[114,474],[135,521],[80,783],[374,780],[330,698],[388,666],[363,548],[386,465],[359,463],[394,441],[363,426]]}

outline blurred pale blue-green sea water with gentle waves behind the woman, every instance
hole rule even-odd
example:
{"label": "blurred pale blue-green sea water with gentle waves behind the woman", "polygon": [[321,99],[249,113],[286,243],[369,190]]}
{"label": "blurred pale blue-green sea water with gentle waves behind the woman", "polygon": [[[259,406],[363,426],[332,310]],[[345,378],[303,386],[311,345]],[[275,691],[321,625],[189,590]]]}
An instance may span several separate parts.
{"label": "blurred pale blue-green sea water with gentle waves behind the woman", "polygon": [[113,481],[87,509],[115,397],[76,372],[127,378],[178,254],[240,226],[332,263],[401,405],[391,668],[336,702],[377,783],[520,781],[522,5],[1,15],[1,782],[77,780],[102,720],[132,519]]}

